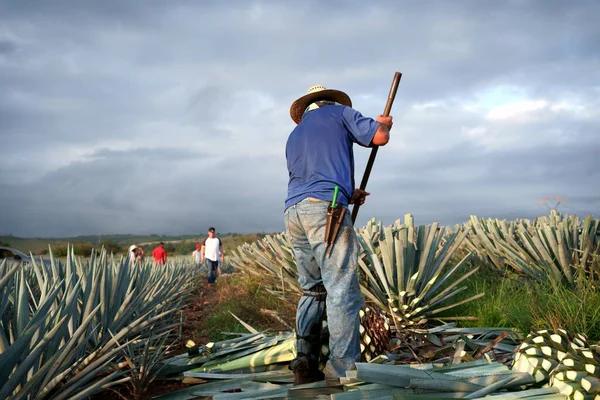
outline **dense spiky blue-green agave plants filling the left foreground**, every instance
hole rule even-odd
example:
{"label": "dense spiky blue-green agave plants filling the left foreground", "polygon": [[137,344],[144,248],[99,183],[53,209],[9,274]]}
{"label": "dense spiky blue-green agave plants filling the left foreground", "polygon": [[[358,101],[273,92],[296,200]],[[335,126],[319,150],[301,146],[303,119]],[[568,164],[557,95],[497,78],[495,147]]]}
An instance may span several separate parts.
{"label": "dense spiky blue-green agave plants filling the left foreground", "polygon": [[[51,254],[51,252],[50,252]],[[89,259],[0,264],[0,398],[83,399],[128,380],[125,347],[178,323],[192,270]]]}

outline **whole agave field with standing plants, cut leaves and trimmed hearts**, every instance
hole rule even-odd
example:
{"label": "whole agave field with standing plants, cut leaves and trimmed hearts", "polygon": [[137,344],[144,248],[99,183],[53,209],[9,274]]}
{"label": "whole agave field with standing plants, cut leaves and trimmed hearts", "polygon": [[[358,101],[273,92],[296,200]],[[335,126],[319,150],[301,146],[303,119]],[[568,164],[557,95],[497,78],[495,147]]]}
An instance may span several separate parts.
{"label": "whole agave field with standing plants, cut leaves and trimmed hearts", "polygon": [[[335,388],[292,388],[293,332],[255,329],[243,315],[232,318],[247,333],[188,343],[173,356],[172,344],[187,340],[181,310],[197,281],[189,260],[158,268],[71,251],[51,263],[0,265],[0,399],[83,399],[123,385],[139,396],[155,380],[191,384],[161,397],[175,400],[600,398],[600,350],[586,332],[477,327],[462,313],[484,301],[471,285],[483,271],[523,287],[598,292],[600,220],[553,211],[443,227],[415,226],[406,215],[389,226],[371,220],[356,233],[363,360]],[[278,301],[298,300],[285,233],[240,245],[229,262],[232,275],[260,277]]]}

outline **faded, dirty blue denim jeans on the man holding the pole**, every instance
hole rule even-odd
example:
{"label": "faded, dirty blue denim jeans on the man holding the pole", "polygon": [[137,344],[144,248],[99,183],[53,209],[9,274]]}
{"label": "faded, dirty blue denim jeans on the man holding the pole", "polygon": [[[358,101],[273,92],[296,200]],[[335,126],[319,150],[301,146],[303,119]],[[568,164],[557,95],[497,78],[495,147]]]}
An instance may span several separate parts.
{"label": "faded, dirty blue denim jeans on the man holding the pole", "polygon": [[[358,282],[358,250],[356,232],[350,212],[346,212],[334,247],[325,255],[325,225],[329,202],[307,198],[285,210],[286,232],[298,266],[298,281],[305,291],[323,284],[327,290],[327,324],[329,328],[329,360],[327,378],[345,376],[360,361],[360,308],[364,298]],[[323,302],[314,296],[302,296],[296,313],[298,353],[309,354],[311,343],[302,337],[314,332],[320,324]]]}

